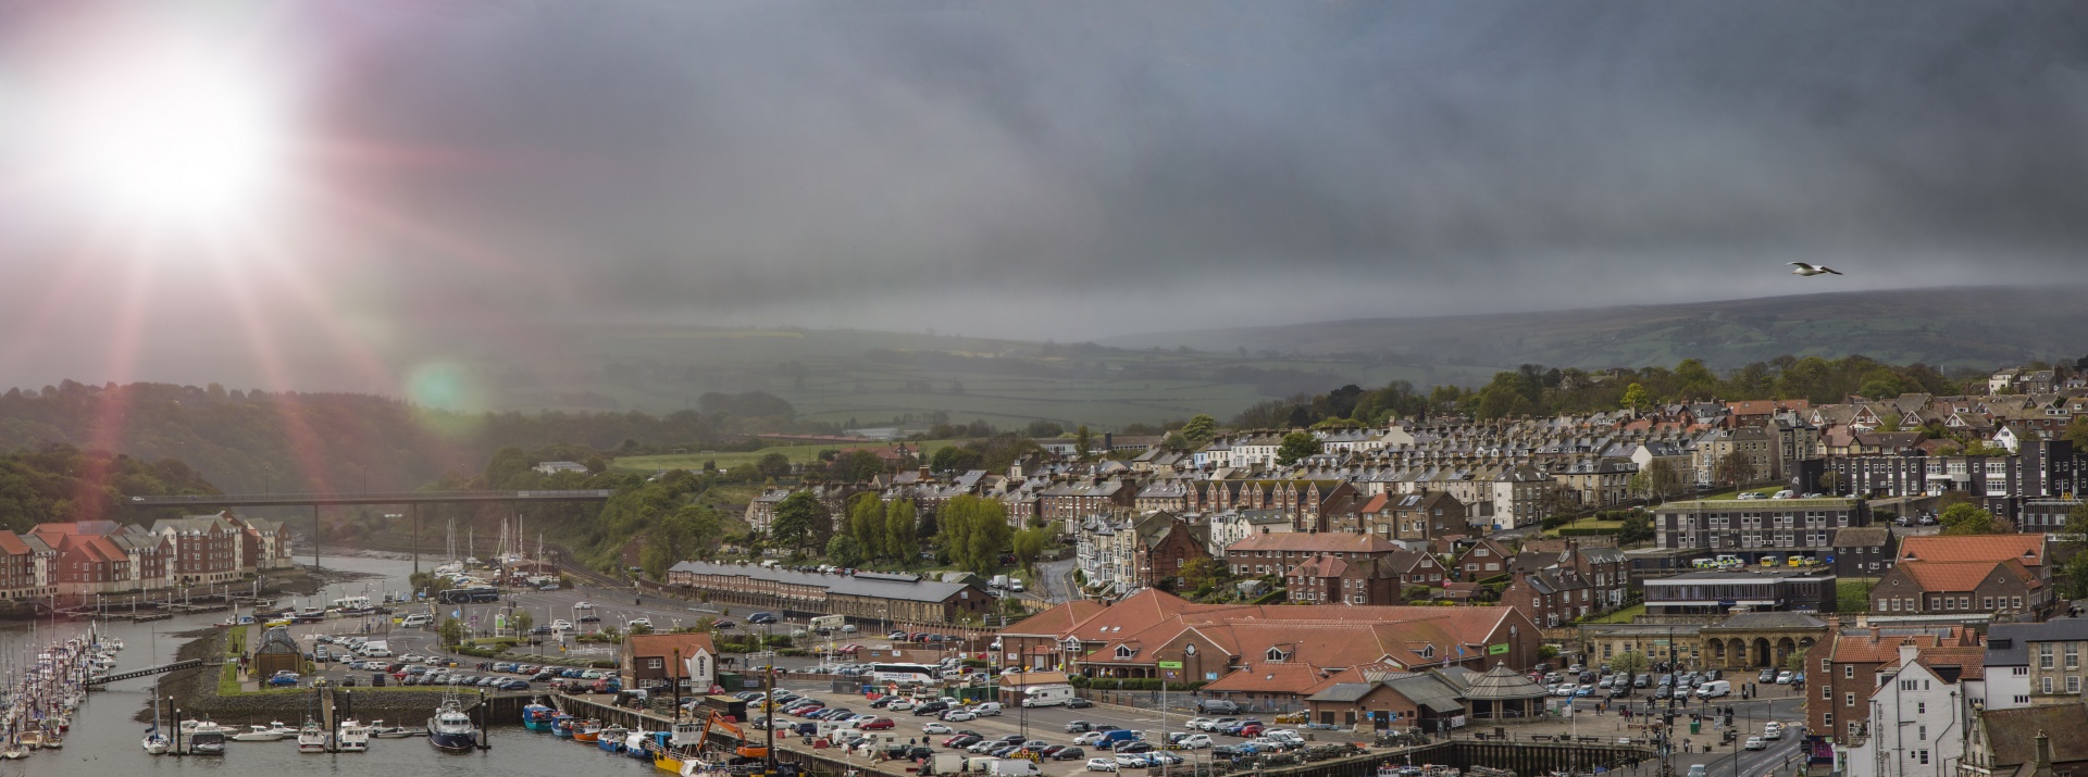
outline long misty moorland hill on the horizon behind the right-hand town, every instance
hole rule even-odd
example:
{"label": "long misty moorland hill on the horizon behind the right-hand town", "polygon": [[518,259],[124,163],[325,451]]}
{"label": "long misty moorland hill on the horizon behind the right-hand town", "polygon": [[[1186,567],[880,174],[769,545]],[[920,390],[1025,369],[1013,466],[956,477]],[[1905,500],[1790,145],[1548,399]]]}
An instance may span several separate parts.
{"label": "long misty moorland hill on the horizon behind the right-hand town", "polygon": [[1376,353],[1411,363],[1637,368],[1704,359],[1714,370],[1779,355],[1923,361],[1986,370],[2088,353],[2082,288],[1913,288],[1543,313],[1382,317],[1102,340],[1142,349],[1297,355]]}

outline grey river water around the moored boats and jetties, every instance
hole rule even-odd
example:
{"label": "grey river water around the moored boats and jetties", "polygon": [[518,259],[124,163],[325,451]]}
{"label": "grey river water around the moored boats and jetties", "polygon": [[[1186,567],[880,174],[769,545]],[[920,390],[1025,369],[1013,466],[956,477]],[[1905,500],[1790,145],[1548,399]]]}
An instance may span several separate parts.
{"label": "grey river water around the moored boats and jetties", "polygon": [[[328,568],[378,574],[382,579],[336,583],[324,589],[324,599],[359,595],[370,591],[403,591],[409,562],[378,558],[328,558]],[[173,660],[180,637],[173,633],[209,627],[223,614],[186,616],[159,622],[117,622],[109,635],[123,639],[125,650],[117,654],[117,670],[142,668]],[[61,622],[58,629],[84,629]],[[38,629],[38,639],[48,637],[48,622]],[[19,656],[31,645],[31,627],[10,627],[0,631],[0,656]],[[152,696],[152,679],[113,683],[104,691],[88,696],[88,704],[73,719],[73,729],[65,737],[63,750],[40,750],[23,760],[0,760],[0,777],[79,777],[79,775],[294,775],[305,769],[324,775],[365,775],[365,777],[441,777],[441,775],[654,775],[651,764],[624,756],[606,754],[593,746],[578,746],[549,733],[535,733],[520,725],[493,727],[493,750],[476,754],[443,754],[426,739],[372,739],[370,752],[361,754],[299,754],[296,741],[230,741],[223,756],[148,756],[138,739],[144,725],[134,716],[146,710]],[[244,721],[219,721],[238,725]],[[286,721],[299,723],[299,721]],[[424,721],[397,721],[422,725]]]}

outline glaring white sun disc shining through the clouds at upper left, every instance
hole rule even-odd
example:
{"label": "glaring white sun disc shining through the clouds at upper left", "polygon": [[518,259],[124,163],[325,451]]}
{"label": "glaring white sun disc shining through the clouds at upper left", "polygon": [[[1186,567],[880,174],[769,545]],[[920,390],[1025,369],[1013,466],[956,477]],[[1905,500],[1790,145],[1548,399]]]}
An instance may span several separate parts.
{"label": "glaring white sun disc shining through the clouds at upper left", "polygon": [[67,84],[48,111],[48,161],[102,215],[211,230],[282,194],[284,117],[255,69],[163,52]]}

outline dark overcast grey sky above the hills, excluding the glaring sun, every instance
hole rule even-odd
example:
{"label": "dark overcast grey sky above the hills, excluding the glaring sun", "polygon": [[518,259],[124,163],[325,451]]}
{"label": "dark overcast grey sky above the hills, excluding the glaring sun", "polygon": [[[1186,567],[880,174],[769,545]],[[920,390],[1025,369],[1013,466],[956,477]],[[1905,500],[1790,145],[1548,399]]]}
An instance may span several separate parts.
{"label": "dark overcast grey sky above the hills, excluding the glaring sun", "polygon": [[269,259],[207,259],[54,207],[0,130],[17,382],[125,328],[1067,340],[2088,280],[2078,2],[8,2],[0,123],[129,67],[106,29],[253,56],[299,192]]}

